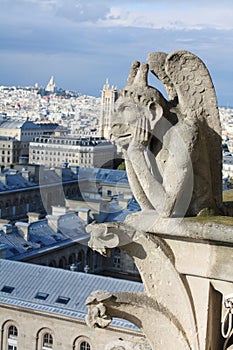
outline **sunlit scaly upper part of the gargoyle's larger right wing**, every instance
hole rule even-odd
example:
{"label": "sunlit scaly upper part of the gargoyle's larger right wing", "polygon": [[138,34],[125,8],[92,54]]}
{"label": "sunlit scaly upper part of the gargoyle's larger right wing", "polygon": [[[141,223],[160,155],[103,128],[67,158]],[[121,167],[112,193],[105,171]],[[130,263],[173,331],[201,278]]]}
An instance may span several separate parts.
{"label": "sunlit scaly upper part of the gargoyle's larger right wing", "polygon": [[205,119],[209,128],[221,135],[215,89],[201,59],[188,51],[175,51],[167,56],[165,71],[177,92],[184,118],[195,115]]}

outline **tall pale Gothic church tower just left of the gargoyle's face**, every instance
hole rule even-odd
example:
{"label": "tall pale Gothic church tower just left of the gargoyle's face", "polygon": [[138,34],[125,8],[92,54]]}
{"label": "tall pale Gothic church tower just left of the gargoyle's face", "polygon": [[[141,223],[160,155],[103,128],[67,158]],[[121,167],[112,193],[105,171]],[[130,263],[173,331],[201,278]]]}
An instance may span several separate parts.
{"label": "tall pale Gothic church tower just left of the gargoyle's face", "polygon": [[108,79],[103,86],[101,95],[101,114],[99,134],[105,139],[110,139],[110,117],[114,110],[114,102],[117,100],[117,89],[112,86],[110,88]]}

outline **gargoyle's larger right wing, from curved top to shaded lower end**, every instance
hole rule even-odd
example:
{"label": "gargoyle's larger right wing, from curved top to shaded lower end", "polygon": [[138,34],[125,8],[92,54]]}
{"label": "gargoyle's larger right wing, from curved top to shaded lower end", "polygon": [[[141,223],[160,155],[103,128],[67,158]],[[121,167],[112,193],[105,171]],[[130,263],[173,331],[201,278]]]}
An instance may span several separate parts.
{"label": "gargoyle's larger right wing, from curved top to shaded lower end", "polygon": [[179,119],[183,119],[185,124],[193,125],[197,122],[199,125],[199,151],[196,154],[199,161],[209,163],[206,164],[206,174],[209,173],[211,178],[214,202],[220,208],[221,125],[209,71],[200,58],[188,51],[170,53],[166,58],[165,71],[177,92]]}

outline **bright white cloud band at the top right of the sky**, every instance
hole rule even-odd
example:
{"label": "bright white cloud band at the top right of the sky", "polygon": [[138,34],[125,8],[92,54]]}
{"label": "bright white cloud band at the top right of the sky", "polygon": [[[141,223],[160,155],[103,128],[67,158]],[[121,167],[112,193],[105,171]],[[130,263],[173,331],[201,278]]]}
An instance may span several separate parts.
{"label": "bright white cloud band at the top right of the sky", "polygon": [[[233,28],[233,3],[229,6],[209,6],[193,3],[184,6],[170,4],[163,6],[128,7],[117,4],[111,8],[107,21],[102,21],[105,26],[132,26],[140,28],[166,28],[166,29],[232,29]],[[169,1],[168,1],[169,3]]]}

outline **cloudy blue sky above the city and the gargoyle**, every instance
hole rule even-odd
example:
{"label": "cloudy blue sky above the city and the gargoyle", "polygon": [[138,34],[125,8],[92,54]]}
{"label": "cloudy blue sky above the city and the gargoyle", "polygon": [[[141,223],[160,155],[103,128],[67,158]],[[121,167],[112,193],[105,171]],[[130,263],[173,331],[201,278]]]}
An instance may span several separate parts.
{"label": "cloudy blue sky above the city and the gargoyle", "polygon": [[59,87],[100,96],[122,88],[133,60],[188,50],[233,106],[232,0],[0,0],[0,85]]}

